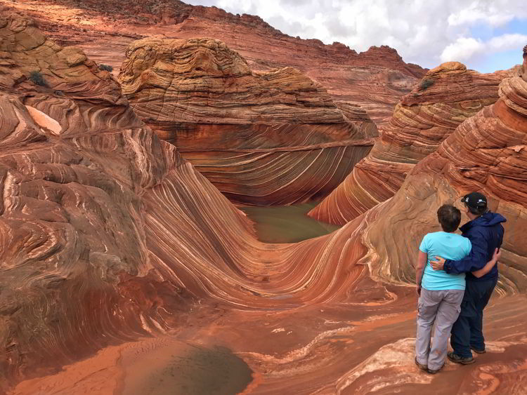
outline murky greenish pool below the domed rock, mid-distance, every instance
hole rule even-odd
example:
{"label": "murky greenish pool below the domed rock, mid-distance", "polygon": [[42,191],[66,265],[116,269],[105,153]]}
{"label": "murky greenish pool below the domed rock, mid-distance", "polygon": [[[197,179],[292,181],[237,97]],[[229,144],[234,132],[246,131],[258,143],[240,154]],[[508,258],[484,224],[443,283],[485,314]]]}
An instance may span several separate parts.
{"label": "murky greenish pool below the domed rock, mid-distance", "polygon": [[239,207],[255,222],[258,239],[265,243],[297,243],[298,241],[328,234],[337,225],[318,222],[307,213],[317,203],[279,207]]}

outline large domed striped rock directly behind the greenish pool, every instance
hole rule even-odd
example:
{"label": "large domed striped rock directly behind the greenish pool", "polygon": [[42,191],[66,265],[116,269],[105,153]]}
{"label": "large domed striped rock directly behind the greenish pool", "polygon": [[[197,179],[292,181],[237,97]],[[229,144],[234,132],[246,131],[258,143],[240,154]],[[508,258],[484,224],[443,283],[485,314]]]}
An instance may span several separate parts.
{"label": "large domed striped rock directly behind the greenish pool", "polygon": [[143,39],[126,58],[119,81],[136,114],[236,203],[320,199],[377,135],[297,69],[252,72],[221,41]]}

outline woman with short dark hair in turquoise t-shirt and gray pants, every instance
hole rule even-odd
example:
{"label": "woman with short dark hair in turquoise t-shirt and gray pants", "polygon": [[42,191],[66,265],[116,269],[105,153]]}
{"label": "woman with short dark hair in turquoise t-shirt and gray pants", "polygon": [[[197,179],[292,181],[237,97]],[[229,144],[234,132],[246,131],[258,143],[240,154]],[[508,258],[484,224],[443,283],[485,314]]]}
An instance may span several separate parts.
{"label": "woman with short dark hair in turquoise t-shirt and gray pants", "polygon": [[[460,260],[471,250],[469,239],[454,233],[460,226],[460,210],[445,204],[437,210],[437,219],[443,231],[429,233],[423,237],[415,270],[419,295],[415,363],[431,374],[437,373],[445,364],[448,337],[461,311],[465,281],[464,273],[447,274],[443,270],[434,271],[430,266],[430,260],[434,260],[436,255],[445,259]],[[472,274],[476,277],[487,274],[499,257],[500,253],[496,250],[493,259],[483,269]],[[434,321],[436,331],[430,347]]]}

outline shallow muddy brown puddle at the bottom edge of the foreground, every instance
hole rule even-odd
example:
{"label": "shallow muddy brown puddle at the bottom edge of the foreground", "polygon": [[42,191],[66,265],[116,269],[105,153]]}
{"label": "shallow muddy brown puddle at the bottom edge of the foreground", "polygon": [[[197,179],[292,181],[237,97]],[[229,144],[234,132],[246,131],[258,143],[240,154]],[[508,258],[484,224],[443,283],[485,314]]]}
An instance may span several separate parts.
{"label": "shallow muddy brown puddle at the bottom edge of the foreground", "polygon": [[252,370],[223,347],[152,341],[122,355],[123,395],[231,395],[252,381]]}

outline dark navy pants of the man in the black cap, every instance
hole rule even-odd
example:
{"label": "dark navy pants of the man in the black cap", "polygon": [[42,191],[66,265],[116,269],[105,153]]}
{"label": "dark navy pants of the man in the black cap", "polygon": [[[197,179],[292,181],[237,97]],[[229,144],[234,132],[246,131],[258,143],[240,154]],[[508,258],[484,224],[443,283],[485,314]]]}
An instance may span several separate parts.
{"label": "dark navy pants of the man in the black cap", "polygon": [[497,279],[467,281],[461,302],[461,313],[452,327],[450,344],[455,354],[463,358],[472,356],[470,347],[485,349],[483,337],[483,309],[492,295]]}

